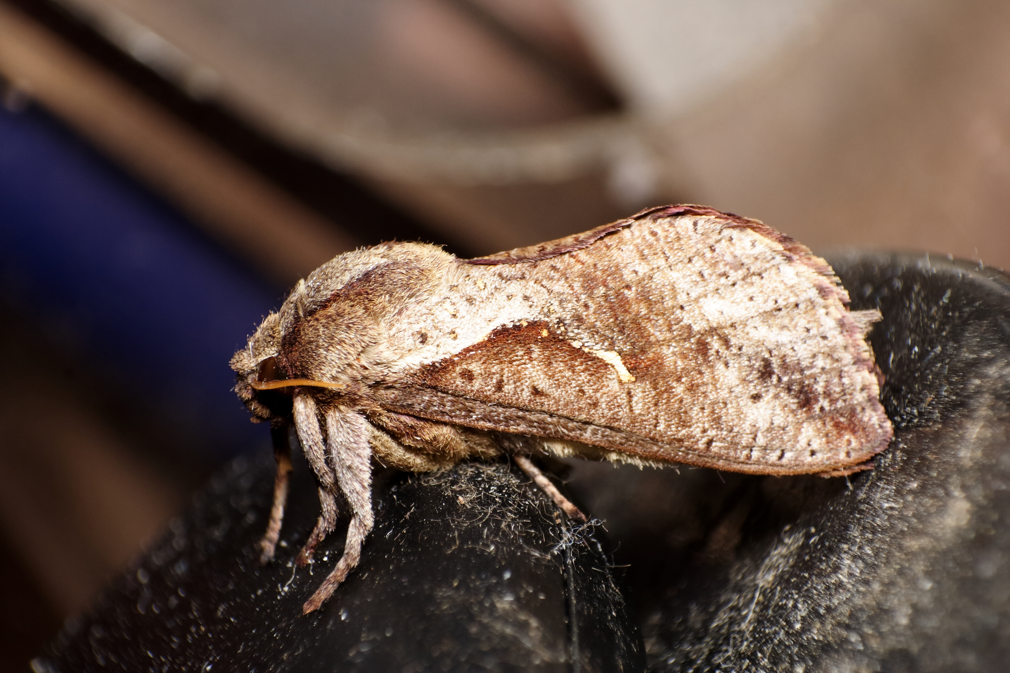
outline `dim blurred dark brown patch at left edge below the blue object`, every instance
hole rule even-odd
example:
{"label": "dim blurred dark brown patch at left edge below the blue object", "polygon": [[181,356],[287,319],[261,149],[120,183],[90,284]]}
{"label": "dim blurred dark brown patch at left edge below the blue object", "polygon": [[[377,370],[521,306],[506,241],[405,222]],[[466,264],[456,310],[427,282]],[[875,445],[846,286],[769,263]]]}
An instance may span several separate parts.
{"label": "dim blurred dark brown patch at left edge below the blue object", "polygon": [[182,507],[183,493],[59,381],[0,381],[0,529],[69,616]]}

